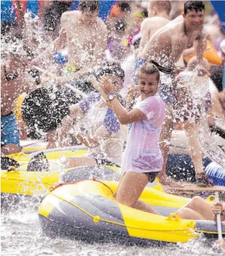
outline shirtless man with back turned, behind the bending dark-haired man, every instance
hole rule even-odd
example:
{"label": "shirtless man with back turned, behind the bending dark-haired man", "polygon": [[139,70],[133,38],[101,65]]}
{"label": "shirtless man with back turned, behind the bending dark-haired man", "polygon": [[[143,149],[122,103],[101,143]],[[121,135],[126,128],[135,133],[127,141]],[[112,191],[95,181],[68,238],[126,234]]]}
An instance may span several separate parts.
{"label": "shirtless man with back turned, behind the bending dark-haired man", "polygon": [[148,17],[141,23],[141,44],[139,51],[142,51],[152,35],[169,22],[171,12],[171,1],[149,1]]}

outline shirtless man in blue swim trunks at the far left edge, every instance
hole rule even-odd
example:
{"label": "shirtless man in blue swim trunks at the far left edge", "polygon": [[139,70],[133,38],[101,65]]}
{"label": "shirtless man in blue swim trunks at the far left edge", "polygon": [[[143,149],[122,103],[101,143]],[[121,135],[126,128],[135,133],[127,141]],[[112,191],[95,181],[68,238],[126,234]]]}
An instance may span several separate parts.
{"label": "shirtless man in blue swim trunks at the far left edge", "polygon": [[[12,45],[11,45],[12,47]],[[8,63],[1,65],[1,153],[10,155],[21,151],[19,133],[14,116],[14,103],[23,92],[34,88],[29,73],[25,72],[30,59],[21,55],[23,49],[10,53]]]}

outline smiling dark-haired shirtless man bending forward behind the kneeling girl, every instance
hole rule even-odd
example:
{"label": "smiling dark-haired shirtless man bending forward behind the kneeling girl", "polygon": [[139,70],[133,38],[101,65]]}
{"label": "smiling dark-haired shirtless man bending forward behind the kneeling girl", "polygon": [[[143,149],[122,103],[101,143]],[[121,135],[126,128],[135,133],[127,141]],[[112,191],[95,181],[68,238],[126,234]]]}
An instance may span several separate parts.
{"label": "smiling dark-haired shirtless man bending forward behind the kneeling girl", "polygon": [[[156,32],[145,45],[143,51],[139,53],[139,58],[136,60],[136,70],[148,60],[154,59],[162,66],[175,70],[175,64],[182,55],[183,51],[192,45],[196,40],[196,53],[198,66],[204,66],[203,49],[204,40],[202,29],[204,26],[205,6],[202,1],[185,1],[184,3],[184,21],[177,23],[169,23],[160,31]],[[169,69],[168,69],[169,71]],[[167,163],[167,155],[169,153],[169,142],[171,140],[173,128],[173,112],[180,110],[180,122],[186,121],[185,116],[182,116],[182,99],[179,99],[178,90],[174,90],[175,74],[161,75],[160,96],[166,103],[166,115],[163,129],[161,130],[161,151],[163,152],[164,164],[163,170],[160,173],[160,181],[163,185],[176,186],[166,176],[165,167]],[[194,160],[194,159],[193,159]],[[204,183],[209,185],[207,177],[203,174],[202,163],[194,160],[196,180],[198,184]],[[198,181],[199,176],[199,181]],[[204,177],[204,179],[202,179]],[[203,185],[203,184],[202,184]]]}

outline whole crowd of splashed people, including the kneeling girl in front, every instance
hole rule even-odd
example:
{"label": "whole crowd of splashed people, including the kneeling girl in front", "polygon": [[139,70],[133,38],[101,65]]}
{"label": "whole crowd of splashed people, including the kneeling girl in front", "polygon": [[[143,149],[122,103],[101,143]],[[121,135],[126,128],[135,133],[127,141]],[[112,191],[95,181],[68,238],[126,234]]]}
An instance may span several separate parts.
{"label": "whole crowd of splashed people, including the kneeling girl in front", "polygon": [[[24,123],[16,120],[14,104],[22,93],[47,83],[58,90],[76,86],[94,73],[106,97],[91,84],[85,90],[78,86],[86,97],[71,104],[60,127],[46,135],[48,147],[56,142],[88,147],[86,157],[66,159],[65,166],[121,166],[115,199],[158,214],[139,196],[156,177],[162,185],[180,186],[165,172],[172,130],[179,128],[187,134],[196,184],[212,186],[196,134],[202,113],[187,72],[196,72],[195,83],[204,81],[209,88],[203,96],[209,125],[225,127],[225,35],[216,15],[206,16],[202,1],[117,1],[104,22],[98,17],[99,1],[80,0],[72,11],[71,2],[42,1],[37,16],[26,12],[18,23],[2,27],[1,153],[21,150],[18,129]],[[222,60],[219,66],[203,57],[209,40]],[[46,76],[49,71],[54,81]],[[211,207],[194,198],[178,216],[214,220],[224,209],[222,203]]]}

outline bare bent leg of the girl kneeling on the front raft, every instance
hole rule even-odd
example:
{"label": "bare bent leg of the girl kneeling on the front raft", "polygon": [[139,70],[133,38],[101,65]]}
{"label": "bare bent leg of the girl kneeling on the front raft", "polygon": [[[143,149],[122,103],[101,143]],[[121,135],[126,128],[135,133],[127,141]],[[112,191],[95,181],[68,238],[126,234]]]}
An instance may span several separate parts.
{"label": "bare bent leg of the girl kneeling on the front raft", "polygon": [[139,200],[147,183],[148,176],[145,173],[126,172],[117,188],[115,200],[137,210],[159,214],[148,203]]}

